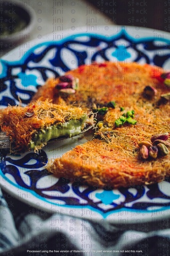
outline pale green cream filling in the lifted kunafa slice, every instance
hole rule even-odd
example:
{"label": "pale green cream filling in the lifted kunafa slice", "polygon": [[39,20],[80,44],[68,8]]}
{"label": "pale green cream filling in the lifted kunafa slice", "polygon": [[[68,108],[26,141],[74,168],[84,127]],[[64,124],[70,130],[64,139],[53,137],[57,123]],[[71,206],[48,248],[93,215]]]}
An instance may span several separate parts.
{"label": "pale green cream filling in the lifted kunafa slice", "polygon": [[60,136],[72,137],[82,132],[82,124],[87,119],[87,115],[84,114],[79,120],[71,119],[65,123],[57,123],[46,127],[45,129],[38,130],[32,140],[30,140],[28,147],[35,149],[37,146],[46,143],[52,138],[58,138]]}

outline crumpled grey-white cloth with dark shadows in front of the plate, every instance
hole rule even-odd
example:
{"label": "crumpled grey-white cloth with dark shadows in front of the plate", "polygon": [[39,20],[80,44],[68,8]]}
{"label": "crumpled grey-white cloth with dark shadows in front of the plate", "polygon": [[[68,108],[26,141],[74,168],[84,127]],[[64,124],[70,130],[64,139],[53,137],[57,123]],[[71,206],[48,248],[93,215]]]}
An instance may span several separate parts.
{"label": "crumpled grey-white cloth with dark shadows in front of the plate", "polygon": [[169,256],[170,219],[97,223],[33,208],[0,190],[0,256]]}

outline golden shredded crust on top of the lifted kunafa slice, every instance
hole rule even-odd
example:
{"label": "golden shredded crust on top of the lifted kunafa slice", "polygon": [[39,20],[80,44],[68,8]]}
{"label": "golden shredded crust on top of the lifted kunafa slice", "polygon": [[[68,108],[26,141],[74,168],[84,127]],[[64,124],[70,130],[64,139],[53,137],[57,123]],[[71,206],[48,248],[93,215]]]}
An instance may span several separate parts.
{"label": "golden shredded crust on top of the lifted kunafa slice", "polygon": [[[80,107],[53,104],[48,100],[36,101],[28,106],[8,106],[1,111],[0,127],[13,143],[11,150],[28,149],[28,144],[38,130],[80,119],[86,112]],[[93,120],[91,120],[93,122]],[[35,147],[41,149],[46,142]]]}

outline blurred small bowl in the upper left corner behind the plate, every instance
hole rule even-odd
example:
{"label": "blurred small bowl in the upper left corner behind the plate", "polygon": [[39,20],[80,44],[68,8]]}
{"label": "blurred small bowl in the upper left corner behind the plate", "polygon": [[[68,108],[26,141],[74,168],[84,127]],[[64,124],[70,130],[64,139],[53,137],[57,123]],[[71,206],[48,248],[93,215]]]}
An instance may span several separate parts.
{"label": "blurred small bowl in the upper left corner behind the plate", "polygon": [[24,40],[35,18],[35,11],[24,1],[0,0],[0,46]]}

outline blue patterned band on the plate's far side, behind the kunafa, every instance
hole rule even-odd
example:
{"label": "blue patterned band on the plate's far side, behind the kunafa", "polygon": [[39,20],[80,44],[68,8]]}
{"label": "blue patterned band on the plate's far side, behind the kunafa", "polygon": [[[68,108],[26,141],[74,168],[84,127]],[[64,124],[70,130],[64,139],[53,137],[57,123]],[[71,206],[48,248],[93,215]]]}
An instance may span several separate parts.
{"label": "blue patterned band on the plate's far side, behind the kunafa", "polygon": [[[0,104],[16,105],[19,103],[18,95],[20,94],[22,94],[22,103],[28,104],[36,89],[48,77],[57,77],[71,67],[85,64],[87,61],[88,63],[98,61],[98,59],[109,61],[114,57],[114,60],[125,61],[128,59],[164,67],[164,65],[168,65],[167,60],[170,59],[170,40],[161,38],[159,45],[155,43],[157,40],[158,38],[152,36],[136,39],[122,26],[118,33],[108,37],[103,34],[83,32],[74,37],[71,35],[61,40],[38,43],[32,48],[28,48],[18,60],[0,60]],[[82,49],[80,46],[83,46]],[[67,55],[63,56],[63,51],[71,52],[76,64],[70,64],[67,61]],[[133,59],[131,59],[132,57]],[[14,70],[16,68],[22,71],[19,71],[18,74]],[[29,87],[29,85],[35,88]]]}

